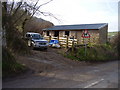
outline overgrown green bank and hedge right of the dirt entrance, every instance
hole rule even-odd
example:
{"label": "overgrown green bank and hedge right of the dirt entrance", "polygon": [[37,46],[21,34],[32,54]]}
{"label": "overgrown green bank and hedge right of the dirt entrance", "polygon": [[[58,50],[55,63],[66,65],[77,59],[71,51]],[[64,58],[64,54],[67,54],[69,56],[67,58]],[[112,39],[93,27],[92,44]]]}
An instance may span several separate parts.
{"label": "overgrown green bank and hedge right of the dirt entrance", "polygon": [[85,55],[85,47],[70,48],[63,55],[78,61],[109,61],[120,58],[120,32],[112,42],[103,45],[88,45]]}

